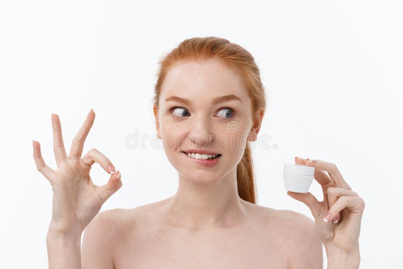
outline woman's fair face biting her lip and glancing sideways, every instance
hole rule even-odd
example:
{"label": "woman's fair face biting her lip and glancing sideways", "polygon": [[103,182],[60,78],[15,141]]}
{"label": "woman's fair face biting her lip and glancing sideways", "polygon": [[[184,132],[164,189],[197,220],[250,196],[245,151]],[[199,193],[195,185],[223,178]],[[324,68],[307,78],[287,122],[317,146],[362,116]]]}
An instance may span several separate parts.
{"label": "woman's fair face biting her lip and glancing sideways", "polygon": [[[171,66],[154,107],[169,162],[187,180],[220,180],[236,168],[247,140],[256,139],[260,120],[253,124],[251,108],[242,77],[220,59]],[[221,156],[207,166],[188,157],[196,150]]]}

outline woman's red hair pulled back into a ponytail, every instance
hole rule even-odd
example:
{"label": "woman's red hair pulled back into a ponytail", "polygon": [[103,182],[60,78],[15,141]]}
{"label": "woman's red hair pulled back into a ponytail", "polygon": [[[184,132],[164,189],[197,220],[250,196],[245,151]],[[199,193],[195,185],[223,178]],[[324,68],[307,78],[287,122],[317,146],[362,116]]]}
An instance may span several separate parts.
{"label": "woman's red hair pulled back into a ponytail", "polygon": [[[161,86],[170,66],[180,61],[212,57],[219,57],[241,74],[252,100],[252,115],[259,111],[264,113],[266,108],[264,88],[253,56],[241,46],[218,37],[186,39],[162,57],[159,61],[158,80],[154,90],[154,106],[158,108]],[[252,154],[249,143],[250,141],[247,141],[242,159],[236,168],[238,194],[243,200],[256,204],[256,183],[253,177]]]}

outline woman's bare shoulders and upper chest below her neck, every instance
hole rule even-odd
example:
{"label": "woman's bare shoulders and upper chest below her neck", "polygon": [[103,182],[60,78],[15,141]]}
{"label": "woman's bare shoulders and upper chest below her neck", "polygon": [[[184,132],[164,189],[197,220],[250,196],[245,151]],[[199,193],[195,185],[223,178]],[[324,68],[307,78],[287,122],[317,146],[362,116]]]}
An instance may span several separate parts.
{"label": "woman's bare shoulders and upper chest below her neck", "polygon": [[83,268],[323,268],[322,244],[305,215],[241,200],[242,222],[193,229],[173,226],[172,198],[98,214],[84,233]]}

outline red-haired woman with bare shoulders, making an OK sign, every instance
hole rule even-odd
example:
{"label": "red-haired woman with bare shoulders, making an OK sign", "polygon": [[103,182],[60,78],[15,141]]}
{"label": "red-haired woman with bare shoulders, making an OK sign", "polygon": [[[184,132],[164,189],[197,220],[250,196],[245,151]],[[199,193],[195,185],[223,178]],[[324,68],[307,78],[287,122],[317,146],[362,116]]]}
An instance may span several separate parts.
{"label": "red-haired woman with bare shoulders, making an OK sign", "polygon": [[[33,142],[37,168],[53,188],[49,267],[322,268],[323,244],[328,268],[358,268],[365,204],[334,164],[295,159],[315,167],[323,201],[309,192],[287,194],[305,203],[315,221],[256,205],[249,143],[257,138],[265,95],[252,55],[226,39],[191,38],[160,64],[154,116],[165,154],[179,172],[177,193],[98,214],[122,182],[96,149],[81,157],[95,113],[88,113],[69,156],[52,114],[57,170],[46,166]],[[112,173],[103,186],[90,178],[95,162]]]}

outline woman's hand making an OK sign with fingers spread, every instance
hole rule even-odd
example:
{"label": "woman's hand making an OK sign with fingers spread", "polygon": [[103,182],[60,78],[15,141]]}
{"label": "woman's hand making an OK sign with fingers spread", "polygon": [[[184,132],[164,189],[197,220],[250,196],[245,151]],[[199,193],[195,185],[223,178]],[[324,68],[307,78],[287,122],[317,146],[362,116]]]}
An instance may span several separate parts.
{"label": "woman's hand making an OK sign with fingers spread", "polygon": [[[45,164],[39,143],[32,142],[36,168],[49,180],[53,190],[49,229],[63,234],[81,234],[103,203],[122,186],[120,172],[114,172],[111,161],[96,149],[81,158],[84,141],[95,119],[92,109],[73,140],[69,156],[64,149],[59,117],[52,114],[51,119],[57,170]],[[100,164],[107,173],[114,172],[105,185],[97,186],[92,182],[90,169],[94,163]]]}

